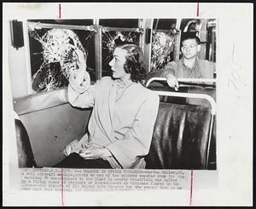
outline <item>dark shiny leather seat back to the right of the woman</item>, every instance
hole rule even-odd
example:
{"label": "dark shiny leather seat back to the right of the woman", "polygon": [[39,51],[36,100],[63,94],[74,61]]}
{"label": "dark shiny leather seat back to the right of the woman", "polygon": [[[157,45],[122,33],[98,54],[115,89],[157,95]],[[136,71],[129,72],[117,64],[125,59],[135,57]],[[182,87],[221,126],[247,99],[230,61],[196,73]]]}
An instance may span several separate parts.
{"label": "dark shiny leather seat back to the right of the woman", "polygon": [[205,169],[210,120],[208,107],[160,102],[146,168]]}

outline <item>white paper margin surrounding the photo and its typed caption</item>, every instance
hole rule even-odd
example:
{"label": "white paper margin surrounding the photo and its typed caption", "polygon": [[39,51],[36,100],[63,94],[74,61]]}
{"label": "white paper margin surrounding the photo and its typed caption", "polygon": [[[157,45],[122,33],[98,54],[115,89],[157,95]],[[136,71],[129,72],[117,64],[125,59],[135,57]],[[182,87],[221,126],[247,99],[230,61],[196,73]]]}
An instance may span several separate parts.
{"label": "white paper margin surrounding the photo and its typed caption", "polygon": [[[78,9],[79,5],[79,9]],[[58,13],[58,3],[4,3],[3,4],[3,28],[8,27],[8,20],[12,19],[55,19]],[[199,18],[215,17],[218,19],[217,32],[217,100],[218,100],[218,122],[217,122],[217,161],[218,175],[216,179],[209,171],[194,171],[193,199],[191,200],[191,171],[187,177],[190,181],[188,189],[172,190],[163,189],[151,191],[122,191],[122,192],[78,192],[64,194],[59,191],[20,191],[20,171],[17,170],[17,162],[14,160],[16,148],[13,148],[15,133],[12,111],[12,97],[9,84],[8,72],[8,44],[9,36],[3,35],[3,183],[5,205],[9,206],[118,206],[129,204],[131,206],[187,206],[189,204],[203,205],[250,205],[252,204],[252,85],[253,85],[253,49],[252,49],[252,6],[250,4],[221,4],[200,3],[200,12],[197,14],[196,3],[157,3],[159,11],[156,12],[155,3],[61,3],[63,19],[84,18],[84,10],[90,11],[88,18],[108,17],[151,17],[151,18]],[[167,9],[166,6],[169,6]],[[239,7],[241,6],[241,7]],[[125,8],[125,12],[124,12]],[[143,9],[142,9],[143,8]],[[16,9],[20,13],[9,13],[9,9]],[[113,15],[113,9],[116,13]],[[237,12],[244,9],[245,15],[237,16]],[[48,11],[45,13],[45,11]],[[172,11],[172,15],[170,16]],[[98,11],[96,15],[93,11]],[[150,11],[148,14],[147,11]],[[181,14],[182,13],[182,14]],[[18,15],[19,14],[19,15]],[[186,14],[186,15],[185,15]],[[225,15],[230,15],[225,18]],[[246,23],[242,25],[241,23]],[[246,27],[247,30],[236,30],[235,26]],[[241,32],[244,31],[244,32]],[[234,33],[236,32],[236,33]],[[241,36],[242,34],[242,36]],[[244,38],[243,37],[247,37]],[[247,47],[247,48],[246,48]],[[247,50],[251,49],[251,50]],[[241,59],[242,58],[242,59]],[[224,71],[223,69],[228,69]],[[220,91],[221,90],[221,91]],[[228,92],[228,94],[224,94]],[[244,110],[243,114],[242,111]],[[228,111],[229,110],[229,111]],[[7,111],[6,113],[4,113]],[[234,121],[234,114],[239,119],[248,121],[238,126]],[[228,121],[227,121],[228,120]],[[242,130],[242,131],[238,131]],[[243,133],[243,134],[242,134]],[[6,140],[7,138],[11,140]],[[244,143],[239,144],[241,138]],[[226,149],[228,146],[228,150]],[[236,157],[237,155],[241,158]],[[9,156],[9,158],[7,158]],[[242,169],[243,168],[243,169]],[[217,171],[215,171],[216,173]],[[233,175],[233,176],[232,176]],[[243,186],[238,182],[243,181]],[[217,186],[216,186],[217,185]],[[233,189],[231,194],[228,191]],[[247,194],[242,195],[241,194]],[[35,198],[27,202],[27,196],[44,195],[42,202]],[[84,200],[83,196],[87,198]],[[147,196],[143,199],[143,196]],[[170,195],[172,198],[170,198]],[[129,199],[127,200],[127,197]],[[212,198],[210,198],[212,196]],[[64,198],[64,199],[63,199]],[[42,199],[41,199],[42,200]]]}

